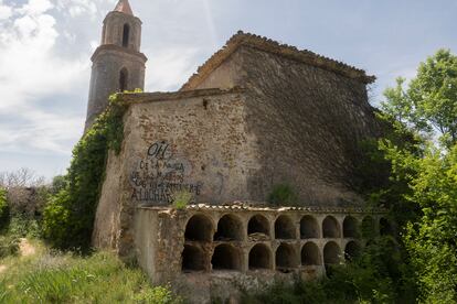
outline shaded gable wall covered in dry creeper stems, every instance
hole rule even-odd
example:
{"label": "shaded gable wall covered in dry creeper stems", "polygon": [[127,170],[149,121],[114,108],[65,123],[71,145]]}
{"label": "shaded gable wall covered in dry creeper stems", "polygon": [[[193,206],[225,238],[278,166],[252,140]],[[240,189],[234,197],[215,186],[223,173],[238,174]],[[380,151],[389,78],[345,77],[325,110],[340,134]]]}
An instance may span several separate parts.
{"label": "shaded gable wall covered in dry creeper stems", "polygon": [[353,192],[359,142],[378,132],[364,83],[241,46],[198,87],[232,84],[246,88],[246,123],[259,146],[252,199],[288,183],[307,204],[361,203]]}

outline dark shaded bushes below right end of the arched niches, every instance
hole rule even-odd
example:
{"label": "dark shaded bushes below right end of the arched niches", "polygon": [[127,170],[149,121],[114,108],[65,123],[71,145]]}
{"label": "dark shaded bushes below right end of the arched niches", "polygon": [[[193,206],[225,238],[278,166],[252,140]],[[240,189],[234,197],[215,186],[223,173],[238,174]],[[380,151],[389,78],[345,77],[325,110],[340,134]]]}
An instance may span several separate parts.
{"label": "dark shaded bushes below right end of the arched niches", "polygon": [[414,303],[413,282],[392,237],[379,237],[347,264],[327,265],[329,276],[277,283],[243,303]]}

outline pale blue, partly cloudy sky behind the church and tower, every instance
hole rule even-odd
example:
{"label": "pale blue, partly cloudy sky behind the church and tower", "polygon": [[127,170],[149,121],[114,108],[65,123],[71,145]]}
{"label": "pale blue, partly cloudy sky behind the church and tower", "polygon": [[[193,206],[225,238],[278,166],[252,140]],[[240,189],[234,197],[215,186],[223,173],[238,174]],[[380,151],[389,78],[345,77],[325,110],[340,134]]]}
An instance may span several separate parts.
{"label": "pale blue, partly cloudy sky behind the church and tower", "polygon": [[[0,172],[65,173],[85,120],[89,57],[117,0],[0,0]],[[375,75],[373,105],[439,47],[457,52],[455,0],[130,0],[146,90],[176,90],[237,30]]]}

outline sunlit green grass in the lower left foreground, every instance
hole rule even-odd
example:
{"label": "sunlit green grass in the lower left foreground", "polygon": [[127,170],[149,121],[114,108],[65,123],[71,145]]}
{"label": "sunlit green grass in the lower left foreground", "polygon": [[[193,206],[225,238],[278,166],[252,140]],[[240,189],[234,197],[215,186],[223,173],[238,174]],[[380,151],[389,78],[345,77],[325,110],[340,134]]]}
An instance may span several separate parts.
{"label": "sunlit green grass in the lower left foreground", "polygon": [[43,250],[29,259],[10,258],[7,267],[1,303],[181,303],[108,252],[82,258]]}

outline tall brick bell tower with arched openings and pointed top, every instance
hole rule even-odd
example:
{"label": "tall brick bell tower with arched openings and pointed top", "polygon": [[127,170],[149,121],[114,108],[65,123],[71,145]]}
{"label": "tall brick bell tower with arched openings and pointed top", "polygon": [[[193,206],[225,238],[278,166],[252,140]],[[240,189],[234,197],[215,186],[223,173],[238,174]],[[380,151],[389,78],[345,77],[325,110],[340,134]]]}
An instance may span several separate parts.
{"label": "tall brick bell tower with arched openings and pointed top", "polygon": [[85,130],[108,106],[116,91],[144,89],[147,57],[140,52],[141,20],[128,0],[119,0],[103,22],[102,44],[92,56]]}

